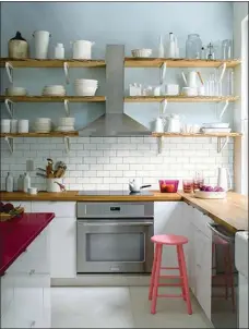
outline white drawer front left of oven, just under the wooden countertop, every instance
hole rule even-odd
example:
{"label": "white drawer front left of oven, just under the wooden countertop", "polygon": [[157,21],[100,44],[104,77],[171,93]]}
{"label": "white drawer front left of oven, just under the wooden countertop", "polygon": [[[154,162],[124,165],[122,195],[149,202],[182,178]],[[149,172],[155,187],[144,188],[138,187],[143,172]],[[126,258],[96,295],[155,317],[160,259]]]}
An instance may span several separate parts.
{"label": "white drawer front left of oven, just under the wooden countertop", "polygon": [[33,212],[55,212],[56,217],[75,217],[76,203],[33,202]]}

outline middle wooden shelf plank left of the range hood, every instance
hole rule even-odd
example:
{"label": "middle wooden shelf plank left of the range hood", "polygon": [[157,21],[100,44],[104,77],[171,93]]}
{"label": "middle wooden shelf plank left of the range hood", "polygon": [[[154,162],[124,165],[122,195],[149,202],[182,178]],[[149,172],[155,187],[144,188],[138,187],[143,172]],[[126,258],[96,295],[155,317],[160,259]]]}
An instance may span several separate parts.
{"label": "middle wooden shelf plank left of the range hood", "polygon": [[10,99],[13,102],[104,102],[105,96],[0,96],[0,101]]}

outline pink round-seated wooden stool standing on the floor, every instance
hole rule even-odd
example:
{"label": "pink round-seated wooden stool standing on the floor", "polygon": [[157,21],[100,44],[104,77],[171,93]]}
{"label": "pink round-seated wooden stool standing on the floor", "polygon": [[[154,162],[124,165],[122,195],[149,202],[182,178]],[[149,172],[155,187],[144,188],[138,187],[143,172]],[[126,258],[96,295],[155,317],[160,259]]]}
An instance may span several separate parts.
{"label": "pink round-seated wooden stool standing on the floor", "polygon": [[[188,243],[188,239],[182,235],[154,235],[151,239],[155,243],[155,254],[152,267],[151,284],[149,291],[149,300],[152,301],[151,313],[156,313],[157,297],[182,297],[187,303],[188,314],[192,314],[191,301],[189,295],[189,284],[187,268],[185,263],[185,253],[182,245]],[[162,267],[163,245],[175,245],[177,247],[177,257],[179,267]],[[161,276],[161,269],[176,270],[178,269],[180,276]],[[179,278],[180,283],[159,283],[159,278]],[[158,294],[158,287],[181,287],[181,294]]]}

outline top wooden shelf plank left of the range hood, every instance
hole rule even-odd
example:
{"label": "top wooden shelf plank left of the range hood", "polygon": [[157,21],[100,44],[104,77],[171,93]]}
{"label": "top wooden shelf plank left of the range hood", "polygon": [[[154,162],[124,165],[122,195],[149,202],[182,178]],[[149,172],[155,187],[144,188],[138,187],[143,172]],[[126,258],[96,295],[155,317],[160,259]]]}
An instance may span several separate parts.
{"label": "top wooden shelf plank left of the range hood", "polygon": [[4,66],[5,62],[10,62],[13,68],[63,68],[63,63],[67,62],[69,68],[105,68],[104,60],[73,60],[73,59],[10,59],[1,58],[0,66]]}

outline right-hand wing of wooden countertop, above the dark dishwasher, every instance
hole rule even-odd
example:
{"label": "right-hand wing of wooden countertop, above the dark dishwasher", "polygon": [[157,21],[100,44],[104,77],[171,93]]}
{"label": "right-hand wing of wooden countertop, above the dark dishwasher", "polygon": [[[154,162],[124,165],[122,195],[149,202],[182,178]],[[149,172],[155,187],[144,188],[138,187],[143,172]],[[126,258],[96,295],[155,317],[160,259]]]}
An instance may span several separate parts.
{"label": "right-hand wing of wooden countertop, above the dark dishwasher", "polygon": [[206,214],[230,231],[248,231],[248,197],[228,192],[225,199],[201,199],[179,192],[183,202]]}

